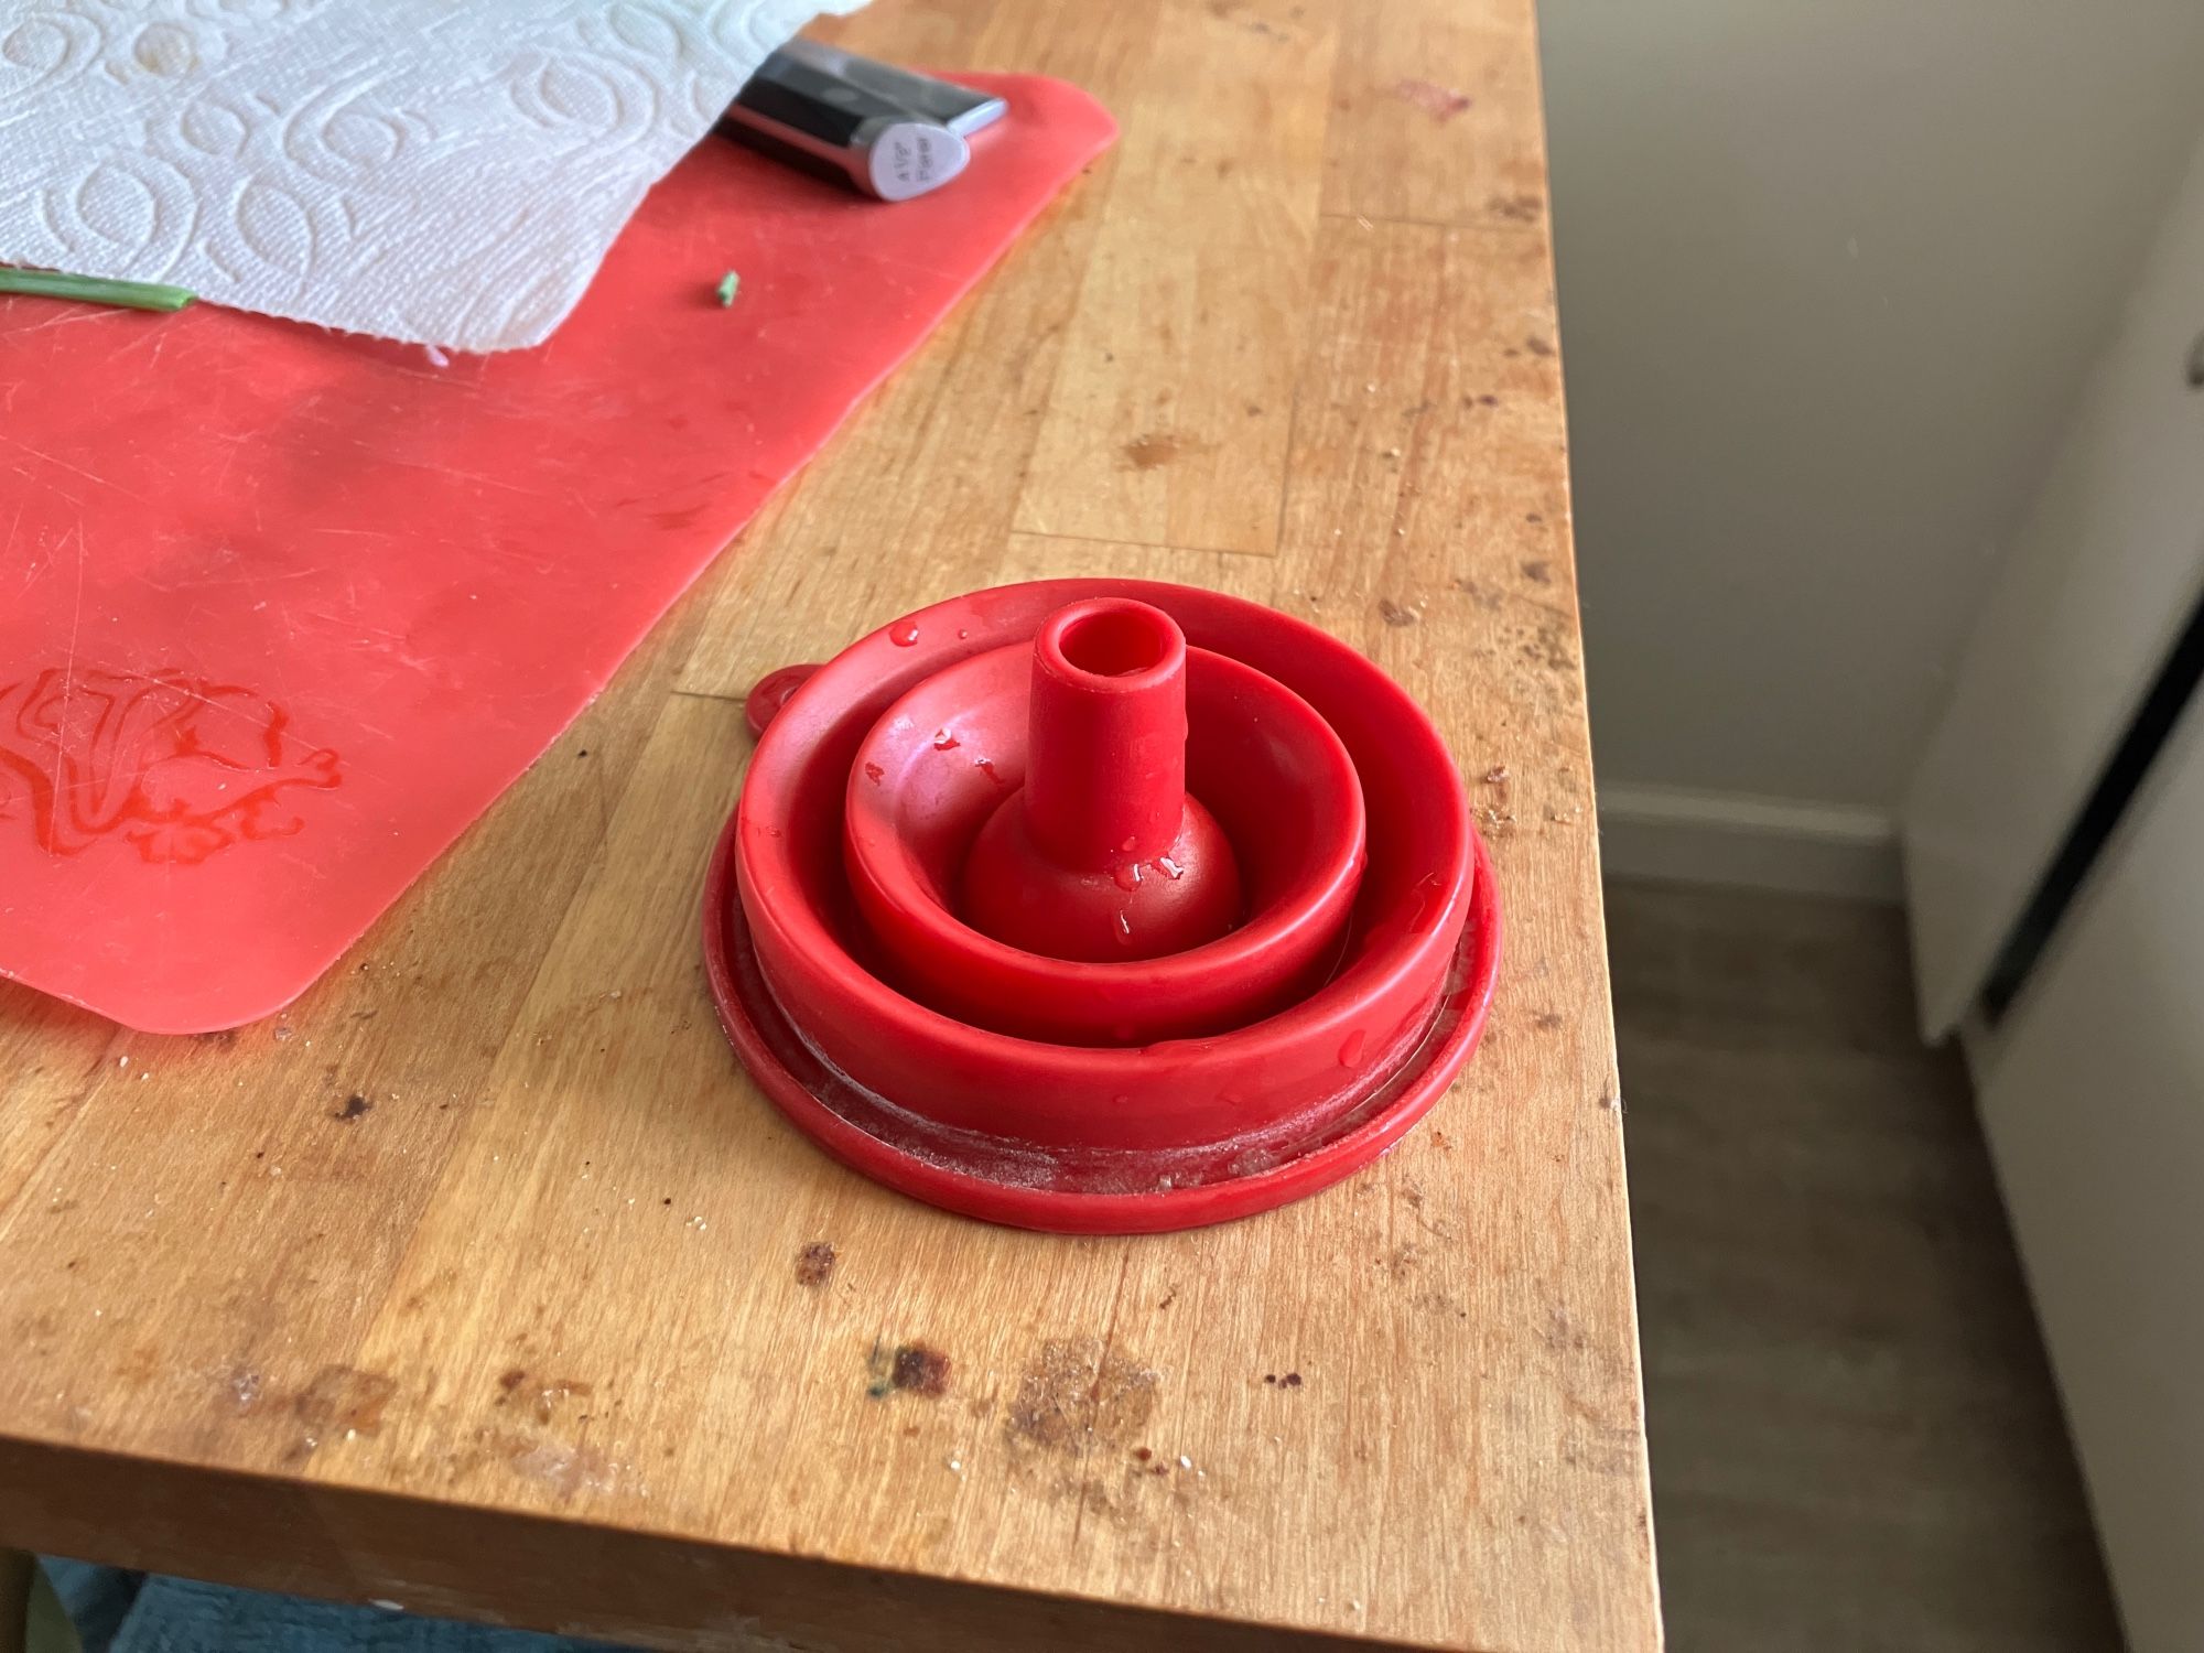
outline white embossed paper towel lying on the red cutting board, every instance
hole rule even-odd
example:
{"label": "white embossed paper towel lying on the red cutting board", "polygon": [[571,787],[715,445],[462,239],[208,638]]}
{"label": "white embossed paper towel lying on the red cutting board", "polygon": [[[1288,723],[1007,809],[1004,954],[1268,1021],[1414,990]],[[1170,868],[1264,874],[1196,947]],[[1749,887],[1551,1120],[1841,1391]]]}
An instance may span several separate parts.
{"label": "white embossed paper towel lying on the red cutting board", "polygon": [[0,262],[538,344],[765,55],[860,4],[0,0]]}

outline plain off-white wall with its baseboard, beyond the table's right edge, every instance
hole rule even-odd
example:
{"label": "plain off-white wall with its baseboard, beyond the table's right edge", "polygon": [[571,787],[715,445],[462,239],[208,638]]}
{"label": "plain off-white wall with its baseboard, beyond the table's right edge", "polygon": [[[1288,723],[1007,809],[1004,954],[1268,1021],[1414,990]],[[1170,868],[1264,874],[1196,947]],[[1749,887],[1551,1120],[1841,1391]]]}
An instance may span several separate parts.
{"label": "plain off-white wall with its baseboard, beyond the table's right edge", "polygon": [[1538,15],[1609,860],[1790,835],[1843,866],[1776,842],[1739,875],[1840,886],[1865,846],[1887,877],[1997,549],[2204,121],[2204,4]]}

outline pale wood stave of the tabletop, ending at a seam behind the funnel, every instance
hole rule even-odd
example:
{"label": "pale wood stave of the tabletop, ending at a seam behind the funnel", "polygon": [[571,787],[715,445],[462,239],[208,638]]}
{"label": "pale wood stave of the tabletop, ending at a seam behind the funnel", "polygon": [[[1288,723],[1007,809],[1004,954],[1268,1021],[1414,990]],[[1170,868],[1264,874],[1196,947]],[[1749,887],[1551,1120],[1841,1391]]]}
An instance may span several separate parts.
{"label": "pale wood stave of the tabletop, ending at a seam behind the funnel", "polygon": [[[1120,106],[1109,205],[1020,529],[1276,549],[1333,60],[1327,11],[1267,0],[1164,13]],[[1192,223],[1201,234],[1186,234]]]}

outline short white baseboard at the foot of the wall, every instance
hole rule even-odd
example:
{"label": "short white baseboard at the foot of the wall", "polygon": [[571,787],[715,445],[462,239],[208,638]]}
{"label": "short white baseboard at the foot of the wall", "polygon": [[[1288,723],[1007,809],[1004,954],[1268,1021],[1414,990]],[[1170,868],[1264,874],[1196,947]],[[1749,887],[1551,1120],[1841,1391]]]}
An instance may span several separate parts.
{"label": "short white baseboard at the foot of the wall", "polygon": [[1845,895],[1898,906],[1898,824],[1880,809],[1602,785],[1600,862],[1620,877]]}

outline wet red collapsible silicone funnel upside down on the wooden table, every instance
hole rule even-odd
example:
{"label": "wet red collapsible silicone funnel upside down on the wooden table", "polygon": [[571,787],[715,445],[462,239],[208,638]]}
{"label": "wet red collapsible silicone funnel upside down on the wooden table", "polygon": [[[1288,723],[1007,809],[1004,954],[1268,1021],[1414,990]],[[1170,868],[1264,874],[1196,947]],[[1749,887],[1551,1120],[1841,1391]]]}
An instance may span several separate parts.
{"label": "wet red collapsible silicone funnel upside down on the wooden table", "polygon": [[[1058,659],[1109,703],[1060,725]],[[1148,694],[1173,670],[1177,763]],[[767,716],[705,888],[712,990],[774,1102],[879,1181],[1067,1232],[1241,1217],[1384,1153],[1474,1045],[1499,919],[1461,780],[1400,688],[1296,619],[1186,586],[1005,586],[853,644]],[[1014,809],[1023,888],[1058,890],[1080,860],[1146,857],[1173,796],[1170,842],[1212,818],[1239,928],[1078,959],[968,921],[972,855]],[[1212,981],[1199,1036],[1144,1025]],[[1065,1009],[1089,998],[1131,1031]]]}

